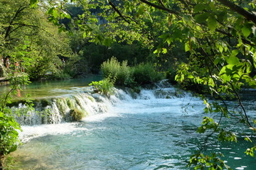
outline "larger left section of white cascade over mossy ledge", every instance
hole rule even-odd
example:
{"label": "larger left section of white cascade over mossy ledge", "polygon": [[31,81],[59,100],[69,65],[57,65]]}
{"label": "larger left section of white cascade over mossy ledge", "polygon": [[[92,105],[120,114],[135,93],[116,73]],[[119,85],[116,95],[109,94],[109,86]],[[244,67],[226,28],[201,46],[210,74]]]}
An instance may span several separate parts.
{"label": "larger left section of white cascade over mossy ledge", "polygon": [[[120,95],[117,94],[116,95]],[[35,102],[33,110],[25,104],[19,103],[13,107],[14,112],[20,112],[16,120],[21,125],[56,124],[72,121],[70,112],[78,109],[85,116],[106,113],[117,98],[94,94],[90,88],[88,91],[57,98],[43,98]]]}

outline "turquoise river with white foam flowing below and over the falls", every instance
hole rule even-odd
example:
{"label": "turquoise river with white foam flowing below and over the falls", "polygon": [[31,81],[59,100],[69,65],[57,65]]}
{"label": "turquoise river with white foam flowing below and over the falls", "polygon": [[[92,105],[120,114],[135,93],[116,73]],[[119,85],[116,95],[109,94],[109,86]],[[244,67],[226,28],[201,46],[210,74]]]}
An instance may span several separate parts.
{"label": "turquoise river with white foam flowing below and over the falls", "polygon": [[[35,89],[41,88],[46,86]],[[38,107],[52,115],[48,120],[38,116],[20,120],[23,145],[11,153],[14,169],[189,169],[189,157],[204,141],[196,132],[205,115],[203,101],[170,85],[142,89],[134,96],[116,89],[106,98],[92,94],[90,86],[69,82],[50,84],[47,93],[39,94],[36,98],[50,99],[49,106]],[[87,116],[80,122],[65,122],[70,106],[87,110]],[[247,101],[247,111],[256,117],[255,100]],[[209,149],[223,152],[233,169],[255,169],[256,159],[244,153],[252,146],[242,137],[237,143],[208,141]]]}

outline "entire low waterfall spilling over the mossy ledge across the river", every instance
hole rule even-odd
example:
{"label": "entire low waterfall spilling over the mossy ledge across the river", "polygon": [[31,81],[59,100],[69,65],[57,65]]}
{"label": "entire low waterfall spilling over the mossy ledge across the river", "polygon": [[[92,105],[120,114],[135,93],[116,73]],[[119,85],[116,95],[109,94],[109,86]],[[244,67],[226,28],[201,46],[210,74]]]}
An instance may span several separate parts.
{"label": "entire low waterfall spilling over the mossy ledge across the river", "polygon": [[101,115],[110,111],[115,103],[129,101],[133,98],[143,100],[152,98],[175,98],[183,96],[182,91],[162,81],[154,89],[142,89],[139,94],[131,94],[127,89],[115,89],[114,95],[107,96],[95,94],[91,89],[79,91],[77,94],[57,96],[55,98],[42,98],[35,101],[33,109],[19,103],[12,110],[16,113],[16,120],[21,125],[42,125],[73,122],[74,111],[84,115]]}

